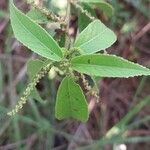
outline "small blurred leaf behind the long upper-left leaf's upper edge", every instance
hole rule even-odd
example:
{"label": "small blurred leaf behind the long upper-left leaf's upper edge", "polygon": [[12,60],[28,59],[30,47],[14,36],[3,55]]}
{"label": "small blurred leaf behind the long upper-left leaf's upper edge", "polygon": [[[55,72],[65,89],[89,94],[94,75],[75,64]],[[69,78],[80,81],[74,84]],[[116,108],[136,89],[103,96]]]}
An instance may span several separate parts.
{"label": "small blurred leaf behind the long upper-left leaf's upper edge", "polygon": [[38,9],[31,9],[28,13],[27,16],[34,20],[36,23],[47,23],[48,19],[47,16],[44,15],[41,11],[39,11]]}

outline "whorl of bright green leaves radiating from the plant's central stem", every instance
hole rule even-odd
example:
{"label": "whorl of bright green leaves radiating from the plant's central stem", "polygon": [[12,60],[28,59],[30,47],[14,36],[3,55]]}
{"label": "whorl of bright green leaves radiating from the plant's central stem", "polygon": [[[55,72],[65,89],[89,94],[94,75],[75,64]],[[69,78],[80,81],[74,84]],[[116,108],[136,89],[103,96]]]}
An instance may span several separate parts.
{"label": "whorl of bright green leaves radiating from the plant's central stem", "polygon": [[[83,4],[99,4],[105,12],[111,6],[105,1],[81,0]],[[109,9],[110,10],[110,9]],[[116,35],[100,20],[92,21],[79,35],[69,49],[61,48],[53,37],[30,15],[23,14],[13,2],[10,2],[11,25],[15,37],[33,52],[46,58],[45,61],[30,60],[28,74],[30,81],[48,63],[64,69],[65,78],[62,80],[56,98],[56,118],[74,118],[82,122],[88,120],[88,105],[81,87],[76,83],[75,71],[89,76],[99,77],[133,77],[150,75],[150,70],[139,64],[134,64],[121,57],[100,54],[116,41]],[[37,93],[34,89],[34,94]],[[35,94],[36,95],[36,94]]]}

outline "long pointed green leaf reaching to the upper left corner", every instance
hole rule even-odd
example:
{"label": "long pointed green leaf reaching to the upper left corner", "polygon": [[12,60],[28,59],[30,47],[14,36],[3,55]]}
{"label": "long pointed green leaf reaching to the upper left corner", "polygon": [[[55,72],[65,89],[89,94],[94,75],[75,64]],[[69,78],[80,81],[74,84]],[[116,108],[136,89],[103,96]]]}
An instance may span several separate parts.
{"label": "long pointed green leaf reaching to the upper left corner", "polygon": [[51,60],[60,61],[61,48],[56,41],[38,24],[18,10],[10,2],[11,25],[15,37],[35,53]]}

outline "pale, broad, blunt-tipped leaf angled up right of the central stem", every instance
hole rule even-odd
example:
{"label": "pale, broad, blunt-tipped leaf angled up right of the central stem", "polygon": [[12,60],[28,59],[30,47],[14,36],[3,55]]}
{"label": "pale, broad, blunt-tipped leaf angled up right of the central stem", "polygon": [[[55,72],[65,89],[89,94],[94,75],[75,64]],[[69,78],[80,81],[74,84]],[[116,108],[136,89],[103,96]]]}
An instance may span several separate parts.
{"label": "pale, broad, blunt-tipped leaf angled up right of the central stem", "polygon": [[74,47],[83,54],[92,54],[105,50],[116,41],[116,35],[100,20],[90,23],[77,37]]}

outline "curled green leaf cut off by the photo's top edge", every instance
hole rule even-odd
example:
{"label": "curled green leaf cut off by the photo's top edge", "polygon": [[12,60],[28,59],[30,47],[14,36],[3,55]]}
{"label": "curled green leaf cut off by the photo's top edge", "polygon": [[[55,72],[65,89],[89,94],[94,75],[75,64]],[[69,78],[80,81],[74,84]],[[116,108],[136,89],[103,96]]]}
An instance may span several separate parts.
{"label": "curled green leaf cut off by the photo's top edge", "polygon": [[104,0],[80,0],[80,2],[88,3],[96,7],[99,7],[109,17],[112,16],[112,14],[114,13],[113,7]]}

